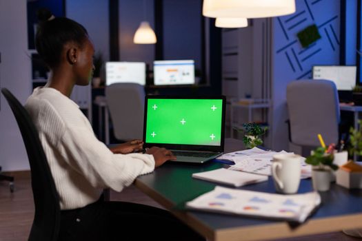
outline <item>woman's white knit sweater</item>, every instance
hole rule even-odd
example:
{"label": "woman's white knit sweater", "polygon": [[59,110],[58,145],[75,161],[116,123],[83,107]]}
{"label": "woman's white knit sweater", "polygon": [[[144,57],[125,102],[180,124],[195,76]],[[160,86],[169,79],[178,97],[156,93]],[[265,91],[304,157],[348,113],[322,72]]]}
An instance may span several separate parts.
{"label": "woman's white knit sweater", "polygon": [[148,154],[113,154],[96,136],[79,106],[50,87],[34,90],[26,103],[45,151],[61,209],[84,207],[110,187],[121,191],[154,169]]}

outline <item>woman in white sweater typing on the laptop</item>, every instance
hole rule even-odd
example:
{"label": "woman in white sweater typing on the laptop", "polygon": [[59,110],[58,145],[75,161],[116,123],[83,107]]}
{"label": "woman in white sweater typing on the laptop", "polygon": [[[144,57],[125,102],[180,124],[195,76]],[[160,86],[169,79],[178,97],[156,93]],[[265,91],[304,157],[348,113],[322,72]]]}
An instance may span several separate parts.
{"label": "woman in white sweater typing on the laptop", "polygon": [[94,47],[88,33],[79,23],[55,18],[48,10],[38,15],[35,45],[51,74],[46,86],[28,98],[26,109],[39,131],[59,193],[59,240],[200,239],[162,209],[103,202],[104,188],[121,191],[137,176],[175,156],[158,147],[146,154],[134,153],[142,148],[141,140],[111,150],[97,140],[87,118],[69,98],[74,85],[88,85],[92,78]]}

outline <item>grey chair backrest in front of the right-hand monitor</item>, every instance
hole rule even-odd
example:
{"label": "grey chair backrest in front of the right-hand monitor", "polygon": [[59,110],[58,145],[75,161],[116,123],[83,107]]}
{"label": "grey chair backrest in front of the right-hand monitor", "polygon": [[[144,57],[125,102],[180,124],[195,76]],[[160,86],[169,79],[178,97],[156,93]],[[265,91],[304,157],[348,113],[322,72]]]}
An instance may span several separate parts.
{"label": "grey chair backrest in front of the right-hand monitor", "polygon": [[291,143],[302,148],[319,147],[317,135],[321,134],[325,145],[338,144],[339,97],[332,81],[292,81],[287,86],[287,105]]}

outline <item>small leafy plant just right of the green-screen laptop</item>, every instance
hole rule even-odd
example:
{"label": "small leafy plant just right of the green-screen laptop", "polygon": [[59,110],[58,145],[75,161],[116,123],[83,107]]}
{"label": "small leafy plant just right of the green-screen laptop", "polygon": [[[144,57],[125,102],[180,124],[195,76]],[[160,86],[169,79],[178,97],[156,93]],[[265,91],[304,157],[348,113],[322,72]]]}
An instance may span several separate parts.
{"label": "small leafy plant just right of the green-screen laptop", "polygon": [[263,144],[261,136],[265,134],[268,127],[261,127],[257,123],[244,123],[243,129],[237,129],[239,132],[243,132],[243,143],[246,149],[251,149]]}

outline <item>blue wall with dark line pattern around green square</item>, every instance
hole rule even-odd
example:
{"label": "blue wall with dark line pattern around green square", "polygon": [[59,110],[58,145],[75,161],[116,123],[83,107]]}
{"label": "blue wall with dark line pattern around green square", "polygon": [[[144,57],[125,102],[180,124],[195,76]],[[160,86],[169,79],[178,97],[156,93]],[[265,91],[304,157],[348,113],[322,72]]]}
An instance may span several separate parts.
{"label": "blue wall with dark line pattern around green square", "polygon": [[[339,65],[340,2],[296,1],[294,14],[273,19],[273,149],[288,149],[288,126],[285,124],[288,83],[311,78],[313,65]],[[296,34],[312,24],[318,27],[321,39],[302,48]]]}

